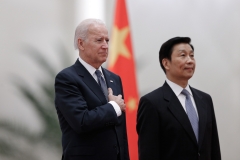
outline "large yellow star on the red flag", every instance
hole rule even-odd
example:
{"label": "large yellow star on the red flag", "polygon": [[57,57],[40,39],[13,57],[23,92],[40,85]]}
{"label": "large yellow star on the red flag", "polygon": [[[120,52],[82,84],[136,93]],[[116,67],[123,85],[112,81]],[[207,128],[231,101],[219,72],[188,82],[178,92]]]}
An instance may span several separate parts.
{"label": "large yellow star on the red flag", "polygon": [[114,26],[111,46],[110,46],[110,57],[109,57],[109,67],[113,67],[117,61],[118,56],[123,56],[125,58],[131,58],[131,54],[128,47],[125,44],[127,35],[129,34],[129,27],[124,27],[121,30],[117,26]]}

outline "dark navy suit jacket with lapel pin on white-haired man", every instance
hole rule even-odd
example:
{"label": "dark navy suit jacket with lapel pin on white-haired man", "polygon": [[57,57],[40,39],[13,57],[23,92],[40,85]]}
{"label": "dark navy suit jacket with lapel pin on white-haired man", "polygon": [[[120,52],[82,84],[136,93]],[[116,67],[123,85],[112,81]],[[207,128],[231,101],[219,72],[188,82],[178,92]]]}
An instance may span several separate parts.
{"label": "dark navy suit jacket with lapel pin on white-haired man", "polygon": [[[123,95],[119,76],[102,68],[113,94]],[[79,62],[57,74],[55,106],[62,130],[63,160],[128,160],[125,113],[117,114],[101,87]]]}

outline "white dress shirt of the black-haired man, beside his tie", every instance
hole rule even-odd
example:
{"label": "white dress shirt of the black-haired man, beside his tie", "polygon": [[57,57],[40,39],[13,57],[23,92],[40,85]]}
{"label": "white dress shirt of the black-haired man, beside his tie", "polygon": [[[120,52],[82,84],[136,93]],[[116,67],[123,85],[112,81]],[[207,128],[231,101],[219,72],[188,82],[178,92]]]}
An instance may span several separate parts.
{"label": "white dress shirt of the black-haired man, beside his tie", "polygon": [[[177,96],[178,100],[179,100],[180,103],[182,104],[183,109],[184,109],[185,112],[187,113],[186,105],[185,105],[186,96],[181,93],[184,88],[182,88],[181,86],[179,86],[179,85],[176,84],[176,83],[173,83],[173,82],[170,81],[169,79],[166,79],[166,82],[167,82],[167,84],[170,86],[170,88],[173,90],[173,92],[174,92],[175,95]],[[185,89],[186,89],[186,90],[189,92],[189,94],[190,94],[190,98],[191,98],[191,100],[192,100],[193,107],[194,107],[194,109],[195,109],[195,111],[196,111],[196,113],[197,113],[197,116],[198,116],[196,104],[195,104],[195,101],[194,101],[194,98],[193,98],[193,95],[192,95],[192,91],[191,91],[189,85],[187,85]]]}

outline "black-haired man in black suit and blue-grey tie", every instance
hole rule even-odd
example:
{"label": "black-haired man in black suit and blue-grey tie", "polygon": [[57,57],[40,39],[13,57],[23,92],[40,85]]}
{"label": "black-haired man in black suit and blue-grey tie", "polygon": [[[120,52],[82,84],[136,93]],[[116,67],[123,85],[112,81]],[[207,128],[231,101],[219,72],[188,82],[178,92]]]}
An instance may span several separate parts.
{"label": "black-haired man in black suit and blue-grey tie", "polygon": [[190,42],[175,37],[161,46],[166,82],[140,99],[137,113],[140,160],[221,159],[212,98],[188,84],[195,70]]}

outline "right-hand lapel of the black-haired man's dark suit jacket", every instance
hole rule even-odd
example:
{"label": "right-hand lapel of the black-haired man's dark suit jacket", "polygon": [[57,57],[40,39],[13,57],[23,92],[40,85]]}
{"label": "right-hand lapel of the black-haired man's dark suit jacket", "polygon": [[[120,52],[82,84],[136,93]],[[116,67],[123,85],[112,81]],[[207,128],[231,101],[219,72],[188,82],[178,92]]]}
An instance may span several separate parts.
{"label": "right-hand lapel of the black-haired man's dark suit jacket", "polygon": [[198,110],[198,117],[199,117],[199,137],[198,137],[198,145],[199,148],[202,145],[203,141],[203,136],[204,132],[206,129],[206,124],[207,124],[207,110],[206,110],[206,104],[203,102],[202,96],[199,94],[198,91],[196,91],[194,88],[190,87],[192,93],[193,93],[193,98],[196,103],[196,107]]}

